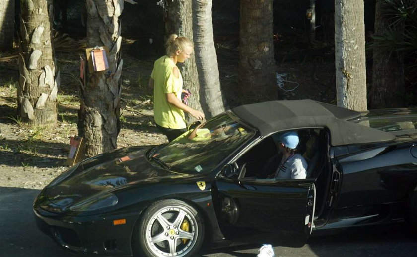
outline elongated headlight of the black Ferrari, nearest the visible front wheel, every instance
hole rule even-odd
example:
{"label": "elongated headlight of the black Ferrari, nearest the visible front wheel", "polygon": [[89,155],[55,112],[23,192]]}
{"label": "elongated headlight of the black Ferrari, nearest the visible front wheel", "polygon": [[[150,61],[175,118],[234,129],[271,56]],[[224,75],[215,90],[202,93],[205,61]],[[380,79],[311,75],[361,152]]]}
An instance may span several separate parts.
{"label": "elongated headlight of the black Ferrari, nearest the visible front wheel", "polygon": [[115,194],[103,192],[93,195],[70,207],[72,211],[92,211],[116,205],[118,199]]}

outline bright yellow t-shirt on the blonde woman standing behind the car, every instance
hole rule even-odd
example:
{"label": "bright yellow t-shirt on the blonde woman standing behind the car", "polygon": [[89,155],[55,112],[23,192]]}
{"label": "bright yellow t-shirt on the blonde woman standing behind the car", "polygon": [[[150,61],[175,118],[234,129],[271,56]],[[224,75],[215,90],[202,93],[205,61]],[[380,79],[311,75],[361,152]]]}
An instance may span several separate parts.
{"label": "bright yellow t-shirt on the blonde woman standing behind the car", "polygon": [[153,65],[150,77],[154,81],[154,119],[156,124],[161,127],[183,129],[187,127],[184,112],[168,103],[165,95],[174,93],[181,101],[183,80],[181,73],[178,78],[172,73],[172,68],[175,66],[175,63],[168,56],[162,56],[157,59]]}

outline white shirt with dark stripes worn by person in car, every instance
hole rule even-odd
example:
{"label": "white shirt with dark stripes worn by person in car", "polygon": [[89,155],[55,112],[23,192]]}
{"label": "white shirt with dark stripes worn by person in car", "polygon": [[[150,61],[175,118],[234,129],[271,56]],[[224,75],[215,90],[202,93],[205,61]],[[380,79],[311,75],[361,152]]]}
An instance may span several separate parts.
{"label": "white shirt with dark stripes worn by person in car", "polygon": [[279,163],[275,173],[277,179],[304,179],[307,176],[307,162],[301,154],[292,154]]}

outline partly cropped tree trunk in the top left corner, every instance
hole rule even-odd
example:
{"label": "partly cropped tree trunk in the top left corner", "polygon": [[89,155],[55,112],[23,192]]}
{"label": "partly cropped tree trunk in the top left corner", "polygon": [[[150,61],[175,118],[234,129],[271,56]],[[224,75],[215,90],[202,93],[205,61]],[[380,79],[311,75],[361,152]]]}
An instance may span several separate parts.
{"label": "partly cropped tree trunk in the top left corner", "polygon": [[0,51],[13,48],[14,0],[0,1]]}

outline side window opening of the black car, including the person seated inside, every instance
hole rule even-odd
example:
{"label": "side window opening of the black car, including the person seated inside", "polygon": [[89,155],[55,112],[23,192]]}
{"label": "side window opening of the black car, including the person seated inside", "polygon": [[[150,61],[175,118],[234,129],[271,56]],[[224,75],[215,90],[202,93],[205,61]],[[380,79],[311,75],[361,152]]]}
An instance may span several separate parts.
{"label": "side window opening of the black car, including the person seated inside", "polygon": [[[290,177],[318,178],[326,166],[326,146],[325,129],[299,129],[275,133],[266,137],[236,161],[237,166],[240,167],[239,179],[276,181],[291,179]],[[298,161],[298,164],[292,164],[291,161]],[[288,170],[291,167],[292,172],[296,172],[294,165],[299,165],[302,169],[298,175],[286,174],[288,176],[285,177],[285,174],[280,174],[282,170],[291,172]]]}

